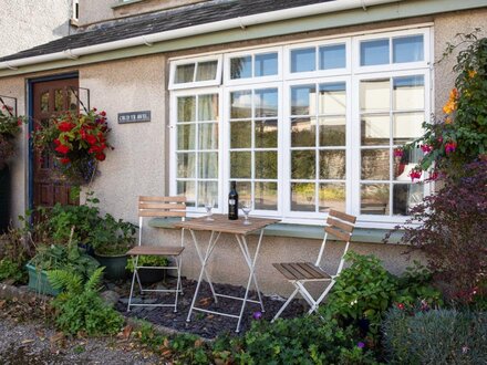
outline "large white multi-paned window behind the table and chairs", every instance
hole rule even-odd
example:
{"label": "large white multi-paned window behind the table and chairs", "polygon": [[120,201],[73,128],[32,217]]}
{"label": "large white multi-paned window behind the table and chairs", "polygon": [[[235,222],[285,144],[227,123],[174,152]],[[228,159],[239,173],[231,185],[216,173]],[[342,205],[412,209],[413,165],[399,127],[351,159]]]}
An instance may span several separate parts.
{"label": "large white multi-paned window behind the table and chairs", "polygon": [[424,28],[172,61],[170,194],[226,212],[235,180],[256,215],[404,220],[427,194],[400,147],[429,115],[428,44]]}

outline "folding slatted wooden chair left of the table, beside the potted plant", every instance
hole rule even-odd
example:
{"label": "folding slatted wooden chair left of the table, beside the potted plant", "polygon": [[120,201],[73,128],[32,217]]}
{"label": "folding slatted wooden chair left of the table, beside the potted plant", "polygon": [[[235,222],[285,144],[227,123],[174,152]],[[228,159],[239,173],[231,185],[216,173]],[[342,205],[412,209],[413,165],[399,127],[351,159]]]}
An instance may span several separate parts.
{"label": "folding slatted wooden chair left of the table, beside the potted plant", "polygon": [[[131,295],[128,298],[127,312],[131,311],[131,306],[174,306],[174,312],[177,312],[177,299],[178,294],[183,293],[180,282],[182,270],[182,253],[184,250],[184,229],[180,232],[180,244],[173,246],[144,246],[142,241],[142,231],[144,225],[144,218],[156,217],[177,217],[185,220],[186,217],[186,198],[185,197],[138,197],[138,246],[134,247],[127,252],[134,260],[134,275],[132,278]],[[143,267],[138,265],[138,258],[141,255],[165,255],[173,258],[174,264],[168,267]],[[158,270],[177,270],[177,284],[176,289],[143,289],[138,271],[144,269],[158,269]],[[148,304],[148,303],[132,303],[134,294],[135,280],[138,282],[141,294],[145,292],[163,292],[175,293],[176,299],[174,304]]]}

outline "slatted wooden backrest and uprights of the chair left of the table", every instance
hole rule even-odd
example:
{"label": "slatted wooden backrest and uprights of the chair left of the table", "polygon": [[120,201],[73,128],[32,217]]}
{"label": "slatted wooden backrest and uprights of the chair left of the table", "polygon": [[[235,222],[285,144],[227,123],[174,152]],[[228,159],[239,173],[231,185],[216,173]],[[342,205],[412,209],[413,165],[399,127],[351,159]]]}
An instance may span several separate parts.
{"label": "slatted wooden backrest and uprights of the chair left of the table", "polygon": [[[138,197],[138,246],[142,244],[143,220],[151,218],[186,217],[186,197]],[[184,231],[182,231],[182,244]]]}

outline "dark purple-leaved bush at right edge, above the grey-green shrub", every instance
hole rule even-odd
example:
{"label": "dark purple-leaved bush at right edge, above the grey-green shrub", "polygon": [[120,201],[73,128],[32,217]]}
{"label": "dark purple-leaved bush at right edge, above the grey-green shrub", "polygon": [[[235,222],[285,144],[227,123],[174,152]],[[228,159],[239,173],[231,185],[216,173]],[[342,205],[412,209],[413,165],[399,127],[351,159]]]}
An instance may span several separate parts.
{"label": "dark purple-leaved bush at right edge, above the grey-green shrub", "polygon": [[466,304],[487,295],[487,161],[467,165],[463,174],[446,179],[396,229],[404,230],[403,242],[426,253],[446,296]]}

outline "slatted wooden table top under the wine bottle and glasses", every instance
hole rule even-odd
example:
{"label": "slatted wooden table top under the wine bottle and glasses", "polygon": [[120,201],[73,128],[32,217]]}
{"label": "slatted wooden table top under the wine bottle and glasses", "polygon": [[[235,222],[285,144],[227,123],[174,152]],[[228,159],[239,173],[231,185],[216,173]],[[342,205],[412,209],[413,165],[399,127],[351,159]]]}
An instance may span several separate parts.
{"label": "slatted wooden table top under the wine bottle and glasses", "polygon": [[213,215],[213,221],[206,220],[205,217],[193,218],[191,220],[174,223],[175,227],[191,229],[195,231],[215,231],[232,234],[248,234],[260,230],[269,225],[277,223],[279,219],[255,218],[249,217],[251,225],[244,225],[244,217],[238,220],[229,220],[227,215]]}

